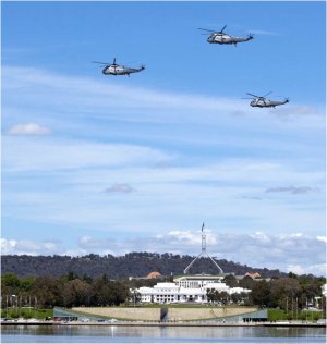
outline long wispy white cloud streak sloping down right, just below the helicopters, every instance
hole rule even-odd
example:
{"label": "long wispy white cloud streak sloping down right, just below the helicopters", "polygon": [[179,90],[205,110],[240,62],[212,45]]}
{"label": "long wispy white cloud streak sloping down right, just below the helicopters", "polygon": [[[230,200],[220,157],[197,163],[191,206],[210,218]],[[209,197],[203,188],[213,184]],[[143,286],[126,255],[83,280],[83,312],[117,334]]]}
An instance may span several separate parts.
{"label": "long wispy white cloud streak sloping down right, just below the helicopters", "polygon": [[[41,108],[43,116],[49,109],[55,109],[56,116],[62,116],[65,122],[85,119],[114,120],[133,123],[223,123],[238,131],[239,125],[252,131],[250,119],[256,127],[265,132],[274,132],[276,116],[269,125],[262,113],[253,111],[239,97],[210,97],[199,94],[171,93],[146,87],[126,86],[117,79],[99,81],[96,78],[64,76],[48,71],[32,67],[2,67],[2,87],[5,91],[4,106],[16,105],[16,94],[20,103],[27,109],[35,109],[35,103]],[[24,94],[21,93],[22,86]],[[37,111],[35,109],[35,111]],[[286,112],[283,112],[286,111]],[[261,111],[263,112],[263,111]],[[4,112],[5,113],[5,112]],[[311,114],[299,119],[298,114]],[[69,115],[68,115],[69,114]],[[235,122],[235,114],[238,121]],[[319,128],[324,121],[324,110],[316,107],[299,105],[287,110],[277,109],[270,114],[280,114],[283,125],[289,122],[292,127],[303,126]],[[284,115],[289,114],[288,122]],[[242,118],[244,116],[245,118]],[[53,115],[52,115],[53,116]],[[296,120],[294,121],[294,118]],[[52,120],[52,118],[50,118]],[[50,120],[49,119],[49,120]],[[60,121],[61,124],[61,121]],[[291,127],[291,126],[290,126]]]}

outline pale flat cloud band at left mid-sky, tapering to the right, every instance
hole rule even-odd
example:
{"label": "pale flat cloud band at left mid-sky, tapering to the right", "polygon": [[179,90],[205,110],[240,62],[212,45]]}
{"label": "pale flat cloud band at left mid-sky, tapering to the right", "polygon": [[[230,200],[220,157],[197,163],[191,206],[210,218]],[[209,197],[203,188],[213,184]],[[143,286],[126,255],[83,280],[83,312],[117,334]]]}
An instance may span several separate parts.
{"label": "pale flat cloud band at left mid-sky, tapering to the right", "polygon": [[155,148],[72,139],[4,137],[3,169],[12,172],[148,164],[170,160]]}

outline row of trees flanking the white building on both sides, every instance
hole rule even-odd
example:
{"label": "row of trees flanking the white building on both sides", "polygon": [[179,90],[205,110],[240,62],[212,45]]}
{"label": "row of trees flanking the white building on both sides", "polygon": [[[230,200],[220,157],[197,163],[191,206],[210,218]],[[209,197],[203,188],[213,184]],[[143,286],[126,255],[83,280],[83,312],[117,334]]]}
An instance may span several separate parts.
{"label": "row of trees flanking the white building on both sides", "polygon": [[[172,281],[172,277],[160,279],[160,282]],[[286,311],[296,307],[305,309],[318,305],[325,311],[326,298],[322,294],[325,278],[312,275],[288,277],[269,280],[253,280],[244,277],[238,280],[234,275],[227,275],[225,282],[230,287],[241,286],[250,288],[250,294],[228,295],[223,292],[208,290],[209,303],[218,305],[242,304],[258,307],[280,308]],[[140,286],[153,286],[157,279],[109,279],[106,274],[92,278],[86,274],[78,277],[70,272],[60,278],[43,275],[19,278],[9,273],[1,277],[1,307],[100,307],[120,306],[140,302],[131,290]]]}

